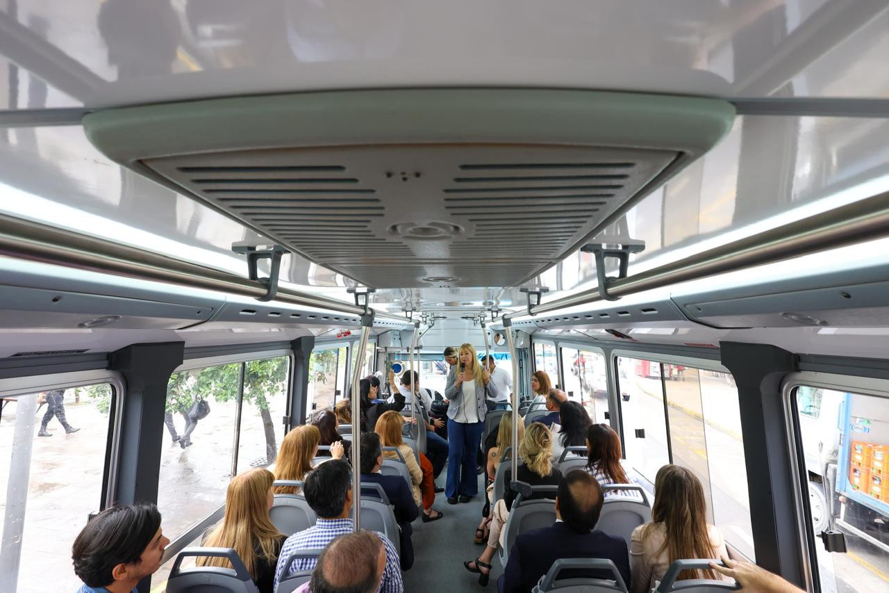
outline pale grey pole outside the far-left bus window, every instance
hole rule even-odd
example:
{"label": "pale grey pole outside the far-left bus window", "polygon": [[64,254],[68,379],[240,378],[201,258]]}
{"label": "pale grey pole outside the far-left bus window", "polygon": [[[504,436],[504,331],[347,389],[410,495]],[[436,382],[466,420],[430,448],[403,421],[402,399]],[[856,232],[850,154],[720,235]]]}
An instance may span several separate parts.
{"label": "pale grey pole outside the far-left bus window", "polygon": [[19,582],[19,562],[22,534],[25,530],[36,410],[36,394],[21,395],[16,400],[15,430],[12,436],[12,443],[15,444],[9,461],[6,520],[3,524],[3,540],[0,540],[0,591],[14,591]]}

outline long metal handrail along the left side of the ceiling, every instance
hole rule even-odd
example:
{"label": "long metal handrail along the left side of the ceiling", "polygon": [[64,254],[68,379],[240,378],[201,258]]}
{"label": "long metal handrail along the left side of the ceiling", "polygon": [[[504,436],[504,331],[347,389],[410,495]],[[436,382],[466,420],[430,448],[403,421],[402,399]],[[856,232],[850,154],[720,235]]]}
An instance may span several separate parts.
{"label": "long metal handrail along the left side of the ceiling", "polygon": [[[254,298],[268,292],[259,281],[230,272],[9,216],[0,216],[0,256]],[[319,307],[353,315],[364,313],[364,307],[284,287],[278,288],[275,300],[270,303]],[[404,317],[397,315],[377,314],[384,319],[404,321]]]}

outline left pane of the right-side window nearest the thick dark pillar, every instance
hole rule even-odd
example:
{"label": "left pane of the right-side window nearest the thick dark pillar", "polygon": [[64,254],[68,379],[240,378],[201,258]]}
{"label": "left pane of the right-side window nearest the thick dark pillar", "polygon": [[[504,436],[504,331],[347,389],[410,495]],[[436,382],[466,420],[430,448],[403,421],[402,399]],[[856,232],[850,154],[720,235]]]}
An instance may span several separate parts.
{"label": "left pane of the right-side window nearest the thick dark pillar", "polygon": [[654,483],[662,465],[669,463],[667,420],[661,388],[661,363],[618,357],[624,456],[629,465]]}

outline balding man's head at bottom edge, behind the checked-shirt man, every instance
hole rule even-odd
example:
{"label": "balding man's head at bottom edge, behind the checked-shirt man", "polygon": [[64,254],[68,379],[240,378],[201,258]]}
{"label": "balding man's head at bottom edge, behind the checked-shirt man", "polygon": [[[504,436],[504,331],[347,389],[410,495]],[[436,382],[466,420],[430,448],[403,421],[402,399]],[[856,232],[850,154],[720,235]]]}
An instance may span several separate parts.
{"label": "balding man's head at bottom edge, behind the checked-shirt man", "polygon": [[312,578],[296,593],[376,593],[386,570],[386,547],[372,532],[340,535],[324,548]]}

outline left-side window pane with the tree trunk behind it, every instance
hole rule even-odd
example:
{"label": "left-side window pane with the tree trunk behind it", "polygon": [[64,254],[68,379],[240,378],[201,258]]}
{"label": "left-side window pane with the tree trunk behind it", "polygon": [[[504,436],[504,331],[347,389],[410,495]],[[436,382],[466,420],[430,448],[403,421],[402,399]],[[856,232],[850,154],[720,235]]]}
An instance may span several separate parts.
{"label": "left-side window pane with the tree trunk behind it", "polygon": [[244,403],[237,448],[238,473],[275,463],[284,438],[290,358],[244,362]]}

